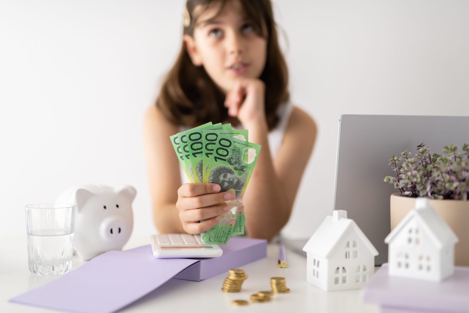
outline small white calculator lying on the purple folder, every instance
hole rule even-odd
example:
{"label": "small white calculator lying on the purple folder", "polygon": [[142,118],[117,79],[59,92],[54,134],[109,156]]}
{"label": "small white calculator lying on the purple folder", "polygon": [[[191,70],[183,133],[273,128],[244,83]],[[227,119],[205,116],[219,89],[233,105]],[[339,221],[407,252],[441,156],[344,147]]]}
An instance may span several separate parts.
{"label": "small white calculator lying on the purple folder", "polygon": [[158,259],[217,258],[223,254],[218,244],[204,244],[200,235],[189,234],[152,235],[151,249]]}

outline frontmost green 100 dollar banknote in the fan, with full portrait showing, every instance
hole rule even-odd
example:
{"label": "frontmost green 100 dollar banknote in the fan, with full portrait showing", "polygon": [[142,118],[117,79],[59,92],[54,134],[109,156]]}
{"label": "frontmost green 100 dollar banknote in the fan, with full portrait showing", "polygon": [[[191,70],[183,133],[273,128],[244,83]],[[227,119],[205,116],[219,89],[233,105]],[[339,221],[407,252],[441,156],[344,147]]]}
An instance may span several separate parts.
{"label": "frontmost green 100 dollar banknote in the fan, with full portrait showing", "polygon": [[[212,148],[212,147],[211,147]],[[229,238],[244,227],[242,196],[250,181],[261,146],[227,135],[219,135],[210,160],[204,162],[203,182],[217,183],[220,192],[228,191],[230,209],[220,220],[201,234],[206,244],[227,244]],[[241,212],[242,214],[238,214]],[[238,220],[239,219],[239,220]],[[239,227],[239,229],[235,229]]]}

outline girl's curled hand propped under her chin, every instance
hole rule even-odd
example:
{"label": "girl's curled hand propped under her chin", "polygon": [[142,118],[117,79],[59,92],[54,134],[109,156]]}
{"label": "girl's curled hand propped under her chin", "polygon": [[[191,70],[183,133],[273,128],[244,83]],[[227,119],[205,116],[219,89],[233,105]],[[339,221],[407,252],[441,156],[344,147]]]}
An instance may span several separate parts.
{"label": "girl's curled hand propped under her chin", "polygon": [[267,125],[264,82],[253,78],[237,79],[233,89],[227,92],[225,107],[228,115],[237,117],[245,128],[259,122]]}

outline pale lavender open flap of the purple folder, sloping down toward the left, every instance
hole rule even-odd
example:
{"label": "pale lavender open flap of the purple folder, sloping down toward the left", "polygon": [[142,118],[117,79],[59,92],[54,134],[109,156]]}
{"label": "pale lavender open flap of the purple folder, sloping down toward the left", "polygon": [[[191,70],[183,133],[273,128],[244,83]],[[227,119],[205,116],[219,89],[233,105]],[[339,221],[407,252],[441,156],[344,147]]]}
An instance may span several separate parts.
{"label": "pale lavender open flap of the purple folder, sloping down toward the left", "polygon": [[131,304],[196,263],[110,251],[10,302],[74,313],[112,313]]}

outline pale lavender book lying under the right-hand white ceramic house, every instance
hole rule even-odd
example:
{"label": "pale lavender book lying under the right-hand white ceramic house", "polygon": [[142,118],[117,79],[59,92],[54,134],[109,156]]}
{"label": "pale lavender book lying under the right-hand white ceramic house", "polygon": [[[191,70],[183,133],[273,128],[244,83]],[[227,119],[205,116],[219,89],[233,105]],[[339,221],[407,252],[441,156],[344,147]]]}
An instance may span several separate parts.
{"label": "pale lavender book lying under the right-hand white ceramic house", "polygon": [[378,304],[382,313],[469,312],[469,267],[455,267],[442,282],[388,275],[387,263],[362,289],[364,302]]}

